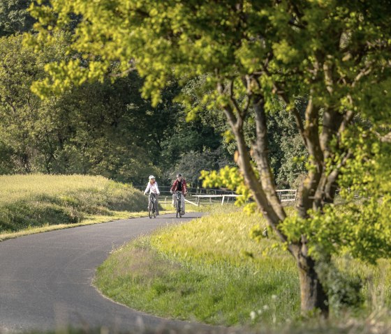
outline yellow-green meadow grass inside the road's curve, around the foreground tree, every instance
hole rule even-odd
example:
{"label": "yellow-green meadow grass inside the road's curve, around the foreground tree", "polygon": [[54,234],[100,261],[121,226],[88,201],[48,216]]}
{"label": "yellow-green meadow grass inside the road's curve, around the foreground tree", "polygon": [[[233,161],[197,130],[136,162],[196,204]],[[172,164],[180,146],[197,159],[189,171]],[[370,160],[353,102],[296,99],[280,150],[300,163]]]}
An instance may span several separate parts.
{"label": "yellow-green meadow grass inside the road's curve, around the foreground tree", "polygon": [[[265,225],[259,215],[233,209],[161,229],[113,252],[98,268],[95,284],[115,301],[161,317],[251,328],[300,323],[293,259],[275,247],[274,238],[251,240],[249,231],[257,225]],[[351,317],[389,312],[389,261],[373,268],[344,257],[337,265],[360,275],[364,285],[359,308],[334,311],[334,324],[346,324],[347,314],[354,322]]]}

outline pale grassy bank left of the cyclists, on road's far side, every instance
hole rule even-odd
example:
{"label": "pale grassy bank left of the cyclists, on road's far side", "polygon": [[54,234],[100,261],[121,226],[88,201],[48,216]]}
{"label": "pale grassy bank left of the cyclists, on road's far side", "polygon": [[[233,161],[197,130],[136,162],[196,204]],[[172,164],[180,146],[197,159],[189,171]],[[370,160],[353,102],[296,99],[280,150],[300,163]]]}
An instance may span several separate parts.
{"label": "pale grassy bank left of the cyclists, on road's far side", "polygon": [[131,185],[102,176],[0,176],[0,240],[147,215],[146,203]]}

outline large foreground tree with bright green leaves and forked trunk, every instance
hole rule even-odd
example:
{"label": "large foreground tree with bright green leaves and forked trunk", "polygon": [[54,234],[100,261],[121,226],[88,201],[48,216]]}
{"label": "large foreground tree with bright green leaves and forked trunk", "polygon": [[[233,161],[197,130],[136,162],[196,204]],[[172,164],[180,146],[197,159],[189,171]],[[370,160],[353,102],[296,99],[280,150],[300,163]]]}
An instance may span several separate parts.
{"label": "large foreground tree with bright green leaves and forked trunk", "polygon": [[[318,308],[328,313],[319,262],[330,262],[342,248],[369,261],[390,256],[385,243],[390,225],[384,219],[389,188],[380,191],[375,183],[366,188],[372,199],[363,204],[367,215],[356,225],[348,216],[338,224],[332,205],[340,184],[365,189],[356,180],[364,174],[358,167],[362,159],[376,161],[376,169],[385,175],[381,164],[389,151],[388,1],[51,3],[52,8],[31,8],[40,17],[38,40],[50,38],[56,30],[53,26],[61,29],[68,24],[72,13],[81,15],[73,47],[91,59],[88,69],[80,70],[79,59],[47,68],[53,80],[46,84],[53,89],[61,89],[64,79],[80,82],[102,77],[116,61],[119,73],[138,68],[145,77],[142,92],[152,96],[156,105],[172,76],[181,83],[207,76],[204,91],[209,93],[204,101],[226,115],[244,182],[297,262],[303,312]],[[304,117],[295,105],[297,96],[308,101]],[[293,217],[279,202],[270,167],[267,119],[275,111],[276,97],[293,114],[309,156]],[[369,119],[369,129],[355,123],[357,116]],[[252,149],[244,135],[249,123],[256,129]],[[374,199],[379,196],[383,200]],[[368,236],[367,226],[374,224],[381,229]],[[362,236],[357,244],[346,243],[357,234]],[[364,245],[365,252],[360,252]]]}

